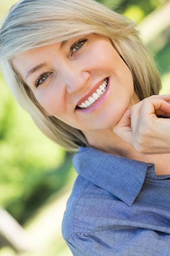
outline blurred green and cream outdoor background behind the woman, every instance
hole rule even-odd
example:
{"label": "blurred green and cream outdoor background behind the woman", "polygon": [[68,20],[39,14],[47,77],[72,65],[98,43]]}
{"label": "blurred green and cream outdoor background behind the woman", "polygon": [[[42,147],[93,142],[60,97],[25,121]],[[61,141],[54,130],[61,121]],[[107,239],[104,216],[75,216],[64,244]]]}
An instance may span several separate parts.
{"label": "blurred green and cream outdoor background behind the woman", "polygon": [[[0,0],[0,20],[15,2]],[[160,94],[170,94],[170,1],[99,2],[137,22],[162,76]],[[0,205],[23,227],[30,239],[28,247],[33,245],[32,252],[15,248],[10,239],[18,233],[7,224],[2,227],[5,219],[0,215],[0,256],[71,255],[61,235],[62,215],[76,177],[71,157],[35,127],[13,100],[0,73]],[[11,229],[10,239],[5,238],[6,229]]]}

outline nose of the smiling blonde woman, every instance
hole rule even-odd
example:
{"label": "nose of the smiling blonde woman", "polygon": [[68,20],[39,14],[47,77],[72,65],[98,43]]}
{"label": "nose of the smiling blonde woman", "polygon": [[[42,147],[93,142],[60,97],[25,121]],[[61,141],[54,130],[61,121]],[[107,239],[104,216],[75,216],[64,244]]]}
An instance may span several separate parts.
{"label": "nose of the smiling blonde woman", "polygon": [[68,94],[74,94],[83,90],[88,84],[90,73],[80,66],[67,66],[64,70],[64,83]]}

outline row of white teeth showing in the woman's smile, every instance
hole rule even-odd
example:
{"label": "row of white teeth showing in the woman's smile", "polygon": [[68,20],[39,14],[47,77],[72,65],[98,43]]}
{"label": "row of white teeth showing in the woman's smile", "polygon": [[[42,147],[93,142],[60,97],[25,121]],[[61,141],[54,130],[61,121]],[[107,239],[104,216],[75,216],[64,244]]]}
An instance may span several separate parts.
{"label": "row of white teeth showing in the woman's smile", "polygon": [[106,91],[108,85],[108,79],[106,78],[102,85],[84,102],[79,104],[76,108],[89,108],[93,103],[95,103]]}

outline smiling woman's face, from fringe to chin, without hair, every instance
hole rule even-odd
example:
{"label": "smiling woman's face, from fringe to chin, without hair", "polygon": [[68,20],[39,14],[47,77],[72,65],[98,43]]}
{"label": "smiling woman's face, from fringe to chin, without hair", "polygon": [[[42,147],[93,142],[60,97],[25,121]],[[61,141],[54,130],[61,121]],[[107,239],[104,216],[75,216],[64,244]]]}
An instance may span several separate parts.
{"label": "smiling woman's face, from fringe to chin, without hair", "polygon": [[131,72],[103,36],[31,49],[13,64],[46,112],[83,132],[113,127],[134,103]]}

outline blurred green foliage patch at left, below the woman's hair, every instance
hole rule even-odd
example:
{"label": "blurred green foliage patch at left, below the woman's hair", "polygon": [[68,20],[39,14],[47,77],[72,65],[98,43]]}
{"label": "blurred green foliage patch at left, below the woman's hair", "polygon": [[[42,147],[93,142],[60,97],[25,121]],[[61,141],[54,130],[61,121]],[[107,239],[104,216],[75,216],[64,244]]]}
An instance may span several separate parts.
{"label": "blurred green foliage patch at left, below the woman's hair", "polygon": [[0,88],[0,204],[23,223],[64,184],[71,160],[15,103],[2,77]]}

